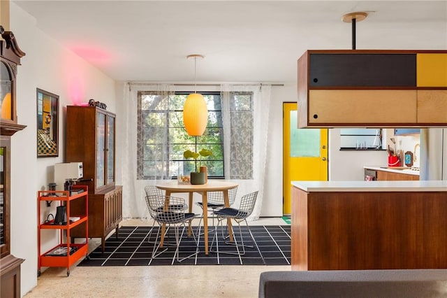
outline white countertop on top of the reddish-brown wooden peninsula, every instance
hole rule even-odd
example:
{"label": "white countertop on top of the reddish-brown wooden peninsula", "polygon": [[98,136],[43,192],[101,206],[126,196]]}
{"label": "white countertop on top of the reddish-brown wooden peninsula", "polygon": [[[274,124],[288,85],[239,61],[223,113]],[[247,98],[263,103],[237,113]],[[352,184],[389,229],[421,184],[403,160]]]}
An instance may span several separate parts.
{"label": "white countertop on top of the reddish-brown wooden peninsula", "polygon": [[292,181],[305,192],[447,192],[447,180]]}

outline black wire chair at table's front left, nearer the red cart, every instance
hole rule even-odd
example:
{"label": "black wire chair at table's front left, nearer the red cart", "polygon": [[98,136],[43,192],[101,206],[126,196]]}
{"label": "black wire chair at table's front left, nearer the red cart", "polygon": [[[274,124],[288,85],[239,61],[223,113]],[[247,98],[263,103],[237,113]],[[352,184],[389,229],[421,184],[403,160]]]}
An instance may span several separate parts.
{"label": "black wire chair at table's front left, nearer the red cart", "polygon": [[[158,222],[160,226],[166,225],[166,232],[168,232],[168,229],[170,229],[171,227],[174,228],[176,248],[173,262],[175,259],[177,259],[177,262],[182,262],[183,260],[192,257],[193,255],[197,255],[198,241],[196,239],[196,236],[192,234],[194,242],[196,242],[196,253],[179,259],[179,246],[184,234],[184,230],[186,229],[185,223],[189,222],[189,225],[191,225],[191,220],[193,220],[193,218],[196,218],[196,214],[185,213],[184,208],[178,208],[178,206],[184,206],[184,199],[178,197],[152,195],[147,196],[146,200],[149,206],[149,214],[152,216],[152,218],[154,218],[154,221]],[[182,229],[181,235],[179,233],[180,226],[183,226],[185,228]],[[160,236],[161,228],[157,230],[156,239],[159,239]],[[161,253],[164,253],[166,250],[168,250],[168,248],[165,248],[164,250],[159,251],[160,247],[160,241],[158,245],[156,243],[154,244],[154,248],[152,249],[152,259],[158,257],[159,255],[161,255]]]}

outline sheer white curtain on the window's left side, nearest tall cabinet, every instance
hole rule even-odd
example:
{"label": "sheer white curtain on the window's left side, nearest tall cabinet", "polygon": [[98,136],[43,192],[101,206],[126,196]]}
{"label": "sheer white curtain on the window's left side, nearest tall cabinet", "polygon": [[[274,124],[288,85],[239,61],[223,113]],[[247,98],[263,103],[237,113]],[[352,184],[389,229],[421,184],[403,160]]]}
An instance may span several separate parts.
{"label": "sheer white curtain on the window's left side, nearest tall cabinet", "polygon": [[[149,213],[147,211],[145,201],[145,186],[154,185],[156,180],[144,180],[138,178],[138,173],[142,173],[142,168],[145,166],[142,163],[142,155],[138,155],[138,150],[142,150],[142,146],[139,143],[138,134],[142,131],[139,130],[141,125],[139,122],[144,121],[141,117],[138,117],[138,108],[141,108],[138,104],[138,94],[144,96],[144,94],[159,94],[154,97],[149,104],[157,106],[158,108],[165,108],[168,104],[168,96],[174,94],[172,85],[155,85],[145,83],[126,83],[124,85],[123,104],[122,104],[122,120],[117,121],[117,125],[122,125],[119,129],[122,129],[123,141],[117,146],[123,146],[122,148],[122,183],[123,187],[123,217],[124,218],[148,218]],[[146,102],[146,104],[148,104]],[[147,107],[145,107],[147,108]],[[163,115],[161,115],[163,117]],[[154,143],[158,143],[161,148],[168,148],[166,142],[168,138],[166,136],[166,130],[161,132],[154,132],[157,136],[157,140]],[[168,152],[162,152],[161,160],[154,164],[149,164],[152,169],[152,173],[156,173],[156,179],[163,179],[163,170],[166,166],[166,158],[168,158]],[[140,158],[139,158],[140,157]]]}

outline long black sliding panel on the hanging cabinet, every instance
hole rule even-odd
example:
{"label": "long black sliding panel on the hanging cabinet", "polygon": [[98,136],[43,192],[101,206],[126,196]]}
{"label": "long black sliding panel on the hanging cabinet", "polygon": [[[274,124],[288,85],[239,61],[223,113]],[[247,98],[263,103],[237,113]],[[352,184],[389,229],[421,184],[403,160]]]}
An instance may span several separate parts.
{"label": "long black sliding panel on the hanging cabinet", "polygon": [[310,87],[416,87],[416,54],[310,54]]}

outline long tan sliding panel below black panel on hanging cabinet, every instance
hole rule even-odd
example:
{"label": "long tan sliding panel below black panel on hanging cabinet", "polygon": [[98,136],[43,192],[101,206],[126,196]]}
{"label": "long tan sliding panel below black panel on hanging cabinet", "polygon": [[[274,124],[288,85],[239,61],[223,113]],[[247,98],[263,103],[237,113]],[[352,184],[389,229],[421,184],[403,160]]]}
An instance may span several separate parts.
{"label": "long tan sliding panel below black panel on hanging cabinet", "polygon": [[416,90],[309,90],[309,123],[416,122]]}

